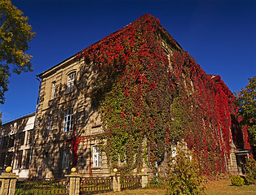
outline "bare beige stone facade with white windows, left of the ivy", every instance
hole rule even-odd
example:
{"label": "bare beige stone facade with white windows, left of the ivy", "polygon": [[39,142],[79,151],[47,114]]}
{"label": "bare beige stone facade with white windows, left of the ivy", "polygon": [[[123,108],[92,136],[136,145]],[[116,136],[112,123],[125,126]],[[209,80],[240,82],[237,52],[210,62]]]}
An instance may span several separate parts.
{"label": "bare beige stone facade with white windows, left of the ivy", "polygon": [[[99,143],[94,137],[103,132],[100,115],[91,106],[90,98],[84,97],[84,90],[77,86],[81,66],[82,63],[73,63],[73,58],[69,58],[39,75],[42,86],[31,170],[33,176],[62,177],[68,174],[73,166],[74,133],[80,137],[77,150],[79,173],[82,176],[108,175],[106,155],[95,151]],[[90,78],[95,78],[96,73],[92,67],[88,68],[90,83]],[[70,79],[72,75],[74,80]]]}

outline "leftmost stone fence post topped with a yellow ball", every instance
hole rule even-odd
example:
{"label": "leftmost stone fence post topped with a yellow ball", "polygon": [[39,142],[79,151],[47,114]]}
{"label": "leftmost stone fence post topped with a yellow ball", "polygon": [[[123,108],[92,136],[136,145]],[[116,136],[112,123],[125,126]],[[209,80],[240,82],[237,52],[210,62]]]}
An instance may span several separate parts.
{"label": "leftmost stone fence post topped with a yellow ball", "polygon": [[11,173],[11,170],[11,167],[7,167],[7,172],[2,172],[0,176],[0,180],[2,181],[0,195],[15,194],[16,179],[18,176],[16,176],[15,173]]}

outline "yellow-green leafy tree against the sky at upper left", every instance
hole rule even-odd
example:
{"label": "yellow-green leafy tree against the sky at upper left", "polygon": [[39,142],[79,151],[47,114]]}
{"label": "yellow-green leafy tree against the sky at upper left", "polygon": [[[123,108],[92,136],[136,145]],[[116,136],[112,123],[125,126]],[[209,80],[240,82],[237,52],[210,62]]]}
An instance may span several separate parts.
{"label": "yellow-green leafy tree against the sky at upper left", "polygon": [[[8,90],[11,72],[31,72],[31,55],[28,42],[35,33],[27,23],[28,17],[11,4],[10,0],[0,0],[0,103],[4,103],[4,93]],[[10,67],[12,65],[12,67]]]}

